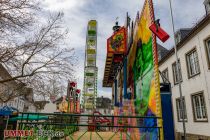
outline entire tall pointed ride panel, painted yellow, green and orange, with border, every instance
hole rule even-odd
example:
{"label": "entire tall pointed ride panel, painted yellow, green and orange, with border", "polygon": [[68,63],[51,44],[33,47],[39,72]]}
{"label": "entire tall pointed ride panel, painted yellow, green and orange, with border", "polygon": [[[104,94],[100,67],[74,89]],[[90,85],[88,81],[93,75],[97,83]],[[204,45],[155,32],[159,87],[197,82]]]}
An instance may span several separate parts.
{"label": "entire tall pointed ride panel, painted yellow, green and orange, with border", "polygon": [[[145,0],[141,16],[139,17],[139,14],[137,14],[132,36],[133,42],[130,44],[131,48],[127,56],[127,95],[120,102],[122,104],[115,105],[114,110],[115,114],[120,115],[145,116],[145,118],[140,119],[127,119],[131,126],[149,127],[129,129],[132,139],[157,139],[158,129],[152,127],[162,126],[161,120],[155,118],[162,115],[159,98],[156,38],[149,29],[152,21],[154,21],[153,12],[152,0]],[[119,95],[118,93],[115,94],[116,101],[119,100]],[[148,116],[151,116],[151,118]],[[115,123],[119,125],[118,122]]]}

